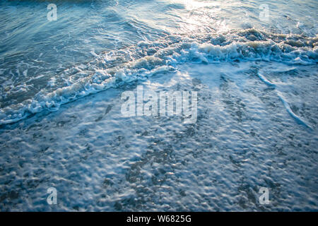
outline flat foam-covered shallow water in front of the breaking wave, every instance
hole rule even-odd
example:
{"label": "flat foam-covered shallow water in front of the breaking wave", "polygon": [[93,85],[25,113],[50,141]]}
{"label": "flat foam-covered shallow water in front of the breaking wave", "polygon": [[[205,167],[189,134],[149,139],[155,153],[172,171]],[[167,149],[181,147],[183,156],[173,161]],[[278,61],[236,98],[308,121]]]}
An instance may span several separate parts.
{"label": "flat foam-covered shallow water in front of the breaking wave", "polygon": [[[271,71],[285,66],[180,64],[1,126],[1,210],[317,210],[317,77],[314,66],[296,66],[285,81]],[[123,117],[122,93],[138,84],[197,90],[196,123]],[[52,186],[57,205],[46,201]],[[270,205],[257,202],[259,187]]]}

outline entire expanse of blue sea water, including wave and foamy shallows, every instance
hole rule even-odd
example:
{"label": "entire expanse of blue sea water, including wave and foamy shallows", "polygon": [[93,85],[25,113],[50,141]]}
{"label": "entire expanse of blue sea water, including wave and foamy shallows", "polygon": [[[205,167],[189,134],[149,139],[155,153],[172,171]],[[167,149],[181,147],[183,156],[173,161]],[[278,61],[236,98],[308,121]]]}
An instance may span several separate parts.
{"label": "entire expanse of blue sea water, including wave and foamy shallows", "polygon": [[[0,3],[1,210],[317,210],[316,1],[47,4]],[[137,85],[196,123],[122,117]]]}

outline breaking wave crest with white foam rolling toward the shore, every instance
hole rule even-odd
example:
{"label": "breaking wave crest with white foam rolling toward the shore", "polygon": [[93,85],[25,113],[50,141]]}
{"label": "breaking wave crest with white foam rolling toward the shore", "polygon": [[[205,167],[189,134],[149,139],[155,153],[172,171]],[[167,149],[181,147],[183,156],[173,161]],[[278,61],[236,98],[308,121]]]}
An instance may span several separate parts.
{"label": "breaking wave crest with white foam rolling toward the shore", "polygon": [[155,42],[95,55],[49,81],[33,99],[0,110],[0,124],[9,124],[44,109],[56,111],[67,102],[158,73],[177,71],[179,64],[226,61],[278,61],[317,64],[318,37],[283,35],[254,28],[223,34],[167,35]]}

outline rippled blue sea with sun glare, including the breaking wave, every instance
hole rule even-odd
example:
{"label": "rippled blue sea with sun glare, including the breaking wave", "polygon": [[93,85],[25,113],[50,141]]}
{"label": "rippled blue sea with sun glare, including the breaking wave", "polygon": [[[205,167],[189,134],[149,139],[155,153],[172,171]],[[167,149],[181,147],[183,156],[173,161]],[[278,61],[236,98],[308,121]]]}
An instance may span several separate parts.
{"label": "rippled blue sea with sun glare, including the breaking wave", "polygon": [[[1,124],[105,90],[116,70],[146,56],[158,61],[132,67],[201,61],[206,52],[204,61],[317,63],[316,1],[57,1],[58,20],[47,12],[43,1],[1,2]],[[202,57],[188,51],[194,44]]]}

